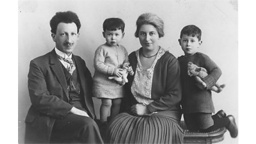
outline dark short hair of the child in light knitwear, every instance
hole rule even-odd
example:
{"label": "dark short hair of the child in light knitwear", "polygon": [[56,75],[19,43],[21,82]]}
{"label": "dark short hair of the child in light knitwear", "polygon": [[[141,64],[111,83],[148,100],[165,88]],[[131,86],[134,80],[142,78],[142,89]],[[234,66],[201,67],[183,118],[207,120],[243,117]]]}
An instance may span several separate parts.
{"label": "dark short hair of the child in light knitwear", "polygon": [[121,29],[124,33],[125,23],[119,18],[108,18],[103,22],[103,31]]}

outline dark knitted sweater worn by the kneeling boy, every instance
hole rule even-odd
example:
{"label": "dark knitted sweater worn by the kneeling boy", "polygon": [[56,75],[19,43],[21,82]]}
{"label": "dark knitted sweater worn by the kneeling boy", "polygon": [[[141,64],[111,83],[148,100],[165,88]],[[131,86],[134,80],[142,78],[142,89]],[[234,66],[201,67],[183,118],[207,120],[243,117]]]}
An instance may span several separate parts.
{"label": "dark knitted sweater worn by the kneeling boy", "polygon": [[[207,55],[200,52],[191,56],[182,55],[178,60],[181,69],[183,113],[214,113],[212,93],[209,89],[221,76],[220,68]],[[195,84],[195,78],[188,75],[189,61],[208,71],[209,75],[202,79],[207,85],[206,90],[199,89]]]}

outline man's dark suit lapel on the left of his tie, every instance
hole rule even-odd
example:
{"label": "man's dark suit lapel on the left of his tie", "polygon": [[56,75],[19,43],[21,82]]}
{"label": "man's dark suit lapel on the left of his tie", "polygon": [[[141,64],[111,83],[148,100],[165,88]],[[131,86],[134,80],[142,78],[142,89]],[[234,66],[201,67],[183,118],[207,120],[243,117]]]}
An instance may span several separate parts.
{"label": "man's dark suit lapel on the left of his tie", "polygon": [[66,78],[65,78],[65,75],[62,70],[62,66],[61,66],[62,64],[60,63],[54,49],[50,53],[50,64],[51,64],[51,68],[52,68],[55,76],[57,77],[58,81],[60,82],[60,84],[68,98],[68,85],[67,85]]}

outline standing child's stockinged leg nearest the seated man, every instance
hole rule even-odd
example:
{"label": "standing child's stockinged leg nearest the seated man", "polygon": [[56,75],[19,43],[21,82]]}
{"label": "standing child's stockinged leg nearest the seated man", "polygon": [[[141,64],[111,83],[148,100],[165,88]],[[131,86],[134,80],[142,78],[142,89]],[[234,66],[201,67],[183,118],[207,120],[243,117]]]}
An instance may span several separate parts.
{"label": "standing child's stockinged leg nearest the seated man", "polygon": [[100,106],[100,121],[107,122],[108,111],[111,107],[111,99],[101,99],[101,106]]}

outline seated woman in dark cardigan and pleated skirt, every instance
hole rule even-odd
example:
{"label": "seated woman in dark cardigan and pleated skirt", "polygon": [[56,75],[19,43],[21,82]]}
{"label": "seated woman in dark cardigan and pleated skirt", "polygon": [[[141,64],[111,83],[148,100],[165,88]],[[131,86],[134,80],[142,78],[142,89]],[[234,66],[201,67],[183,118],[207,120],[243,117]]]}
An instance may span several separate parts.
{"label": "seated woman in dark cardigan and pleated skirt", "polygon": [[126,84],[126,113],[110,121],[107,143],[182,143],[180,67],[158,45],[164,22],[155,14],[141,14],[135,37],[141,48],[129,55],[133,76]]}

